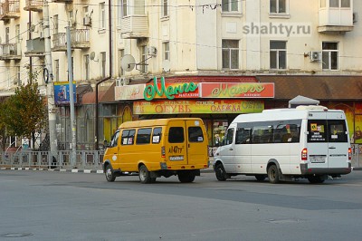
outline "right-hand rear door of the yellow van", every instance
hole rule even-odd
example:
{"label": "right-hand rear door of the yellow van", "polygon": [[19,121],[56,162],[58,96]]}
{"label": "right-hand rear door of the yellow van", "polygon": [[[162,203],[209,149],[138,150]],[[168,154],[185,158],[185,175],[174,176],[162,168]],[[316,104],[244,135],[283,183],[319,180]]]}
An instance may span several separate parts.
{"label": "right-hand rear door of the yellow van", "polygon": [[189,165],[208,161],[207,137],[201,120],[186,120],[187,160]]}

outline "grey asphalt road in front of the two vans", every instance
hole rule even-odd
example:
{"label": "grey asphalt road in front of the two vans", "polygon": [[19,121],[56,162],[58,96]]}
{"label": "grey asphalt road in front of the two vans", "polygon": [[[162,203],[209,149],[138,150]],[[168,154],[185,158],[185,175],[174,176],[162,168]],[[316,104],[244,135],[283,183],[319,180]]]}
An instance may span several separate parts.
{"label": "grey asphalt road in front of the two vans", "polygon": [[321,185],[0,170],[0,240],[362,240],[362,171]]}

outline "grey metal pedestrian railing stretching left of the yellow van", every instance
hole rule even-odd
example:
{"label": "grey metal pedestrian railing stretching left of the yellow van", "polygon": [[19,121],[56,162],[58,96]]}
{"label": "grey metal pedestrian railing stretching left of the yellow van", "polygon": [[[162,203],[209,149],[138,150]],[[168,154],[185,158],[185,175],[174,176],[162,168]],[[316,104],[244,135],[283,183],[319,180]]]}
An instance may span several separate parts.
{"label": "grey metal pedestrian railing stretching left of the yellow van", "polygon": [[[102,150],[0,151],[0,167],[30,169],[101,169]],[[74,160],[71,157],[75,156]]]}

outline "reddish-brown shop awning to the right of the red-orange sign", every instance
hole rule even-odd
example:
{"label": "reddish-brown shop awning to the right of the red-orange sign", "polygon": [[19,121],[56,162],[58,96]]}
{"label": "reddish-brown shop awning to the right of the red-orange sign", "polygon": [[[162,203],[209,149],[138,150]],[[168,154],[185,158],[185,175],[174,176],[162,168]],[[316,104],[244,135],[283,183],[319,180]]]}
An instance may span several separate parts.
{"label": "reddish-brown shop awning to the right of the red-orange sign", "polygon": [[260,82],[274,82],[274,100],[289,101],[302,95],[319,101],[362,100],[362,76],[257,76]]}

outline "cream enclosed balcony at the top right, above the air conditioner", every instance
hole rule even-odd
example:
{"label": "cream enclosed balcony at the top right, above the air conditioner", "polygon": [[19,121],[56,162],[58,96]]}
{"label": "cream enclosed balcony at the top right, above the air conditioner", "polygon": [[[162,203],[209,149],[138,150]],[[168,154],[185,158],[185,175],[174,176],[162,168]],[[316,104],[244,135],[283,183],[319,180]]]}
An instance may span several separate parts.
{"label": "cream enclosed balcony at the top right, above the air conditioner", "polygon": [[319,9],[318,32],[322,34],[346,34],[353,30],[353,8],[325,7]]}

